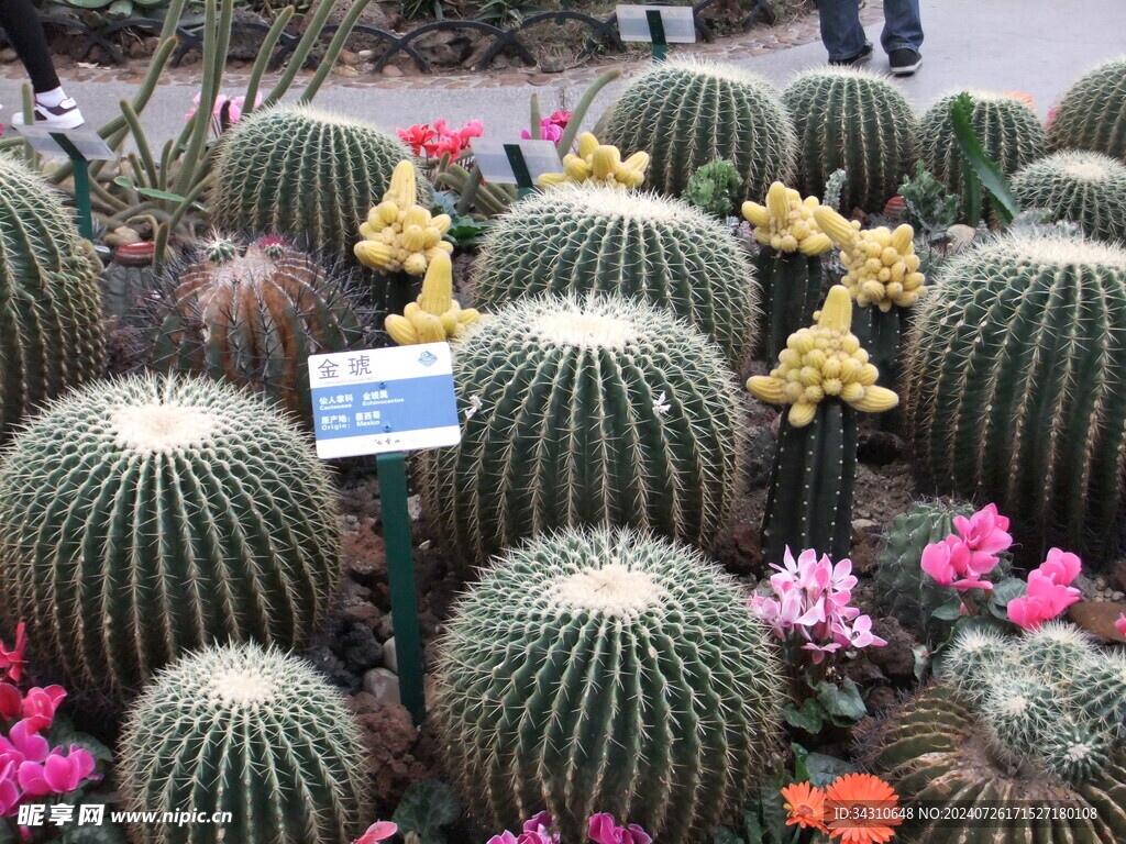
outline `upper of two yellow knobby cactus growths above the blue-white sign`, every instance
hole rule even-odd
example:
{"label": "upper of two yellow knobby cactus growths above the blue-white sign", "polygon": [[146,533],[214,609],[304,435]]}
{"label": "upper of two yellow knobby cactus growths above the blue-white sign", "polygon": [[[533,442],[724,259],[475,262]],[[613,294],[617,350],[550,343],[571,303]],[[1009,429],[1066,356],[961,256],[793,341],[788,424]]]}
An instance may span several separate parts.
{"label": "upper of two yellow knobby cactus growths above the blue-white sign", "polygon": [[364,240],[354,251],[365,267],[421,276],[437,255],[448,259],[454,251],[454,244],[443,240],[452,223],[449,215],[431,217],[418,204],[417,180],[412,162],[404,160],[395,165],[383,201],[368,212],[359,227]]}

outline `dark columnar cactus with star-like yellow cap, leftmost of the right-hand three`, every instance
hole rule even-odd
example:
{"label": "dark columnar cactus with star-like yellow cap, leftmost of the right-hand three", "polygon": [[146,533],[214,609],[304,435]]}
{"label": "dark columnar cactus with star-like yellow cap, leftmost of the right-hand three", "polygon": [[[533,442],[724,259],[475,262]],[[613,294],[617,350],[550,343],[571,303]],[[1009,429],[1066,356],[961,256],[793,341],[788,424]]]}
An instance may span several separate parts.
{"label": "dark columnar cactus with star-like yellow cap, leftmost of the right-hand three", "polygon": [[759,250],[759,285],[766,320],[767,360],[776,360],[786,340],[808,325],[823,298],[821,254],[832,241],[817,226],[816,197],[802,196],[776,181],[766,205],[743,203],[743,217],[754,225]]}

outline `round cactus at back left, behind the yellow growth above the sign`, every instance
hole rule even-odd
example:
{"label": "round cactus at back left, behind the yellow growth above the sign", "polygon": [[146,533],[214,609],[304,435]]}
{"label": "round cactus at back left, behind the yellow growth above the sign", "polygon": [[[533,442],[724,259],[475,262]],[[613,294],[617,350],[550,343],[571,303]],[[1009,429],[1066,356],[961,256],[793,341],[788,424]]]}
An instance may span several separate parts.
{"label": "round cactus at back left, behind the yellow growth above the sign", "polygon": [[[215,225],[280,234],[351,258],[358,226],[383,198],[410,151],[364,120],[309,106],[254,111],[223,135],[212,212]],[[429,207],[429,182],[419,183]]]}

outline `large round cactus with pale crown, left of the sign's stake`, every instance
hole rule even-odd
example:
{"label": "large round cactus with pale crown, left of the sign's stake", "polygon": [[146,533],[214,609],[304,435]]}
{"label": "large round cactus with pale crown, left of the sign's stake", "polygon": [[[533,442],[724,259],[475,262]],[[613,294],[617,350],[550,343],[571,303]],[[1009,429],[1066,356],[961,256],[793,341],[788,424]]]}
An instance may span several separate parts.
{"label": "large round cactus with pale crown, left of the sign's stake", "polygon": [[44,663],[123,697],[216,640],[301,647],[340,571],[330,477],[238,388],[146,376],[51,405],[0,463],[0,609]]}

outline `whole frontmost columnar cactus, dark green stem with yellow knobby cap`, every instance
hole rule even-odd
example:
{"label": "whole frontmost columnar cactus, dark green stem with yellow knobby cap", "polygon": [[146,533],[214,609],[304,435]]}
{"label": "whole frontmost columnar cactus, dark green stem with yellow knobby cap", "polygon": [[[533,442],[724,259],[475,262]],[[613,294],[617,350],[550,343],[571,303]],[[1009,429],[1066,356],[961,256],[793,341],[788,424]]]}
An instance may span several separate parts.
{"label": "whole frontmost columnar cactus, dark green stem with yellow knobby cap", "polygon": [[817,324],[790,335],[770,375],[747,388],[757,398],[789,404],[762,518],[763,557],[780,563],[786,548],[813,548],[834,559],[848,556],[856,481],[856,411],[881,413],[899,403],[876,386],[879,372],[855,334],[852,299],[840,285],[829,290]]}

